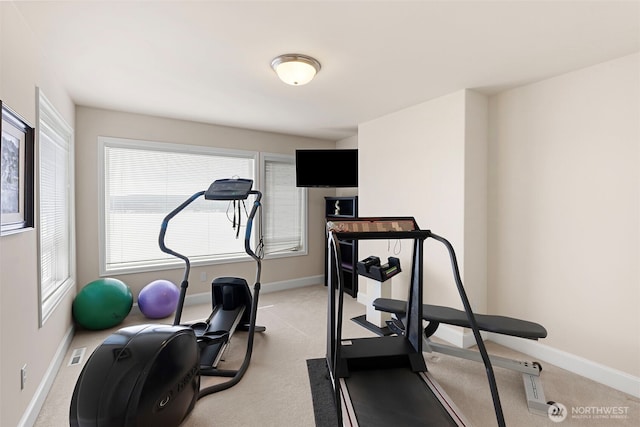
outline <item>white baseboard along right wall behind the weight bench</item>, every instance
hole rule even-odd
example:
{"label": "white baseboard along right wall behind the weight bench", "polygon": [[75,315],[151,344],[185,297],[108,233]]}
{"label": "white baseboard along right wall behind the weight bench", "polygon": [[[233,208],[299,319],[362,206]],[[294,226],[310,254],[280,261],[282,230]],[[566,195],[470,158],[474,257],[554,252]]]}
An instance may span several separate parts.
{"label": "white baseboard along right wall behind the weight bench", "polygon": [[[481,335],[485,340],[531,356],[534,361],[551,363],[574,374],[640,398],[640,378],[626,372],[549,347],[538,341],[491,332],[482,332]],[[476,344],[471,331],[448,325],[441,325],[434,336],[461,348],[469,348]]]}

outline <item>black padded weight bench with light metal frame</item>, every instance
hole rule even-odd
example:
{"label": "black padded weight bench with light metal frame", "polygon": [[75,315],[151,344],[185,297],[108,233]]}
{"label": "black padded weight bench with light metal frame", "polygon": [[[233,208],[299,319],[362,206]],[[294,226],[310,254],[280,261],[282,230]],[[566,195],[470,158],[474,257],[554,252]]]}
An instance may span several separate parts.
{"label": "black padded weight bench with light metal frame", "polygon": [[[406,301],[378,298],[373,301],[373,306],[376,310],[393,314],[394,319],[387,322],[389,329],[398,335],[404,335],[407,312]],[[436,332],[440,324],[470,328],[471,325],[464,311],[451,307],[423,304],[422,319],[429,322],[424,329],[425,351],[435,351],[450,356],[482,362],[480,353],[476,351],[439,344],[430,340],[430,337]],[[481,331],[531,340],[538,340],[547,336],[547,330],[542,325],[526,320],[487,314],[475,314],[475,319],[478,329]],[[544,396],[542,383],[540,382],[542,366],[538,362],[522,362],[499,356],[490,356],[490,360],[495,366],[521,372],[529,411],[538,415],[548,415],[552,402],[547,402]]]}

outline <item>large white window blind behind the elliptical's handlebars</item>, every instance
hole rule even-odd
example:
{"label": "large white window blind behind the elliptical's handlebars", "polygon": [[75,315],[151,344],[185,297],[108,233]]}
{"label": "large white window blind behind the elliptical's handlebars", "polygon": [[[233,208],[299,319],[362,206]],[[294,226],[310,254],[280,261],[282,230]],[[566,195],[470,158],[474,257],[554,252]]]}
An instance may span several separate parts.
{"label": "large white window blind behind the elliptical's handlebars", "polygon": [[[99,142],[104,173],[101,274],[180,264],[159,249],[164,217],[216,179],[255,176],[255,152],[116,138]],[[200,198],[170,221],[165,243],[196,264],[243,258],[244,231],[236,238],[233,215],[230,202]]]}

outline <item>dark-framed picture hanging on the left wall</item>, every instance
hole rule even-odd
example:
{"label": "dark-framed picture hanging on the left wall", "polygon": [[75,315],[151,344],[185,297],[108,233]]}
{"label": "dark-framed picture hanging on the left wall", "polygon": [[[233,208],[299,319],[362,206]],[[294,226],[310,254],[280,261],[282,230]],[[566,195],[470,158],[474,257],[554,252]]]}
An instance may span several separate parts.
{"label": "dark-framed picture hanging on the left wall", "polygon": [[0,101],[0,235],[34,226],[34,128]]}

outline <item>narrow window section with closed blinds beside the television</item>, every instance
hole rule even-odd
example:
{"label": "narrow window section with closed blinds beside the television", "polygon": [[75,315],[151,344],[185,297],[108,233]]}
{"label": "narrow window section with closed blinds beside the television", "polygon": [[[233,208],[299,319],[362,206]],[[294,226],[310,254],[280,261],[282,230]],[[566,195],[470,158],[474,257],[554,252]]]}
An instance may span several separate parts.
{"label": "narrow window section with closed blinds beside the television", "polygon": [[261,169],[265,254],[306,254],[307,191],[296,187],[295,157],[263,154]]}

